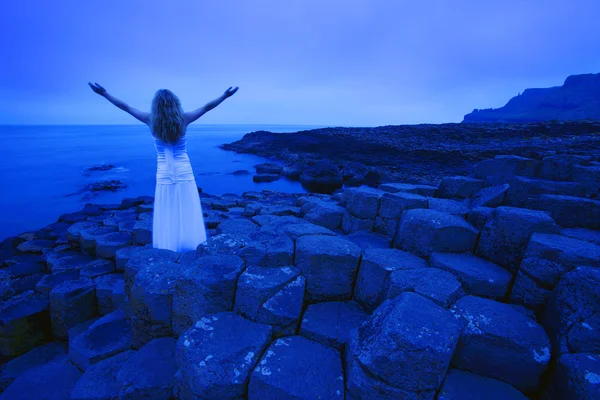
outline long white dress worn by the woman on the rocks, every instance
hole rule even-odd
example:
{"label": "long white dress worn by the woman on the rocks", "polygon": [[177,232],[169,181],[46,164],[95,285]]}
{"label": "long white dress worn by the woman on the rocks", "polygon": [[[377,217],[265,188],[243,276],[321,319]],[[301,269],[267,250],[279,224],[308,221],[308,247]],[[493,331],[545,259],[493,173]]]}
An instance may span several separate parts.
{"label": "long white dress worn by the woman on the rocks", "polygon": [[174,144],[154,135],[152,138],[157,156],[152,247],[176,252],[195,250],[207,237],[186,134]]}

